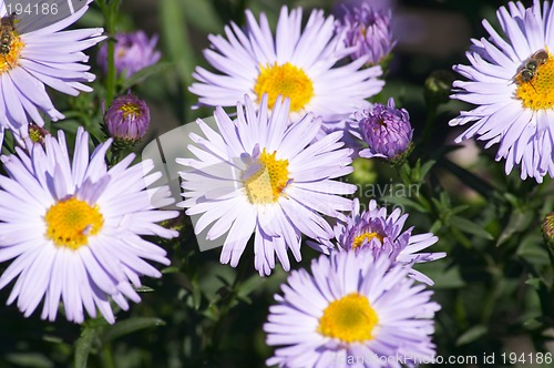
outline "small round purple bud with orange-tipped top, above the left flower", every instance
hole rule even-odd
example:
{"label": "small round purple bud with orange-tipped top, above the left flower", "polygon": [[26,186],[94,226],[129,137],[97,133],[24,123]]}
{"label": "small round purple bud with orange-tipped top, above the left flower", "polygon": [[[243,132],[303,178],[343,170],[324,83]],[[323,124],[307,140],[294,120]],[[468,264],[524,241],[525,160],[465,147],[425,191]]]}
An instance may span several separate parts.
{"label": "small round purple bud with orange-tipped top, above the left flower", "polygon": [[104,114],[110,136],[136,142],[150,126],[150,109],[146,102],[129,93],[115,99]]}

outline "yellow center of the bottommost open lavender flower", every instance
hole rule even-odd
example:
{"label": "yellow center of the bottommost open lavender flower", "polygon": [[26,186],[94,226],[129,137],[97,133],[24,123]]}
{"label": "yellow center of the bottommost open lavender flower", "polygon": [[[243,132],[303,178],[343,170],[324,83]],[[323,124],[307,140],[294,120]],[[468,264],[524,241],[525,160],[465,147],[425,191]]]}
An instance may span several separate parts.
{"label": "yellow center of the bottommost open lavender flower", "polygon": [[318,333],[345,343],[372,339],[371,331],[379,323],[369,300],[358,293],[330,303],[319,318]]}

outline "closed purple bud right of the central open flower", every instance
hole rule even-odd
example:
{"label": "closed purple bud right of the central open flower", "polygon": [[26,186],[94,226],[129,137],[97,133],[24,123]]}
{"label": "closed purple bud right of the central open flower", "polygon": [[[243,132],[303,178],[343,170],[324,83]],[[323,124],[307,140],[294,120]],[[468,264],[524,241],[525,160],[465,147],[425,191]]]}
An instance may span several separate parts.
{"label": "closed purple bud right of the central open flower", "polygon": [[396,109],[392,98],[387,106],[376,103],[372,110],[353,113],[349,125],[352,134],[369,145],[360,151],[360,157],[397,160],[411,147],[410,115],[406,109]]}

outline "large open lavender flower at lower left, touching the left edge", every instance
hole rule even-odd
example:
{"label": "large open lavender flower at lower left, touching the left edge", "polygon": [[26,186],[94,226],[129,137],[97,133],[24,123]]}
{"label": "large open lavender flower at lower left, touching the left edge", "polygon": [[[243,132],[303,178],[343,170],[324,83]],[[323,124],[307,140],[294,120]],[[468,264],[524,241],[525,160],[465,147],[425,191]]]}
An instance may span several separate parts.
{"label": "large open lavender flower at lower left, touching the left edge", "polygon": [[8,304],[17,299],[25,317],[43,300],[41,318],[54,320],[62,301],[69,320],[82,323],[84,310],[94,318],[98,308],[113,324],[110,299],[127,310],[127,298],[141,301],[140,276],[162,276],[147,260],[170,264],[164,249],[141,237],[177,236],[156,224],[178,215],[156,209],[173,202],[170,190],[146,191],[162,176],[146,175],[152,161],[130,167],[129,155],[107,168],[111,140],[89,156],[82,127],[73,154],[62,131],[58,140],[27,143],[30,154],[17,147],[1,157],[8,176],[0,175],[0,260],[13,260],[0,288],[17,278]]}

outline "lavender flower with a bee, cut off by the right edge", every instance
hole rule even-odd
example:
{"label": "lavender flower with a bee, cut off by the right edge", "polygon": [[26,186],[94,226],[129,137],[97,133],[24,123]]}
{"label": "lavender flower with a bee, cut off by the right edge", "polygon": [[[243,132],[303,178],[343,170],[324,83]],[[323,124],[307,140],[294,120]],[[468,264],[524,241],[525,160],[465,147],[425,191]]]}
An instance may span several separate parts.
{"label": "lavender flower with a bee, cut off by the right edge", "polygon": [[554,177],[554,10],[535,0],[531,8],[509,2],[496,11],[499,33],[486,20],[489,38],[472,40],[471,65],[454,65],[465,80],[455,81],[452,99],[474,106],[450,121],[469,125],[455,139],[499,144],[496,161],[505,173],[521,166],[521,178],[542,183]]}

